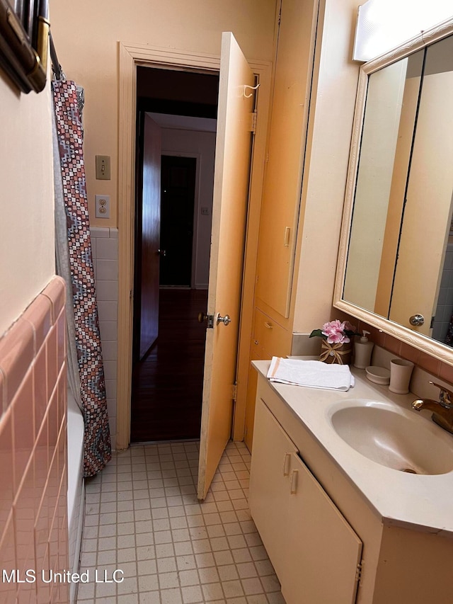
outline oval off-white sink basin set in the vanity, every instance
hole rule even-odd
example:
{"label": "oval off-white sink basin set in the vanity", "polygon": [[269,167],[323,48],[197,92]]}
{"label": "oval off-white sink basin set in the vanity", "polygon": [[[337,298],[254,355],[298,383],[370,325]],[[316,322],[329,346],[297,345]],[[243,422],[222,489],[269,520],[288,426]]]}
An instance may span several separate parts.
{"label": "oval off-white sink basin set in the vanity", "polygon": [[453,437],[415,411],[384,401],[343,401],[329,411],[333,429],[357,452],[409,474],[453,470]]}

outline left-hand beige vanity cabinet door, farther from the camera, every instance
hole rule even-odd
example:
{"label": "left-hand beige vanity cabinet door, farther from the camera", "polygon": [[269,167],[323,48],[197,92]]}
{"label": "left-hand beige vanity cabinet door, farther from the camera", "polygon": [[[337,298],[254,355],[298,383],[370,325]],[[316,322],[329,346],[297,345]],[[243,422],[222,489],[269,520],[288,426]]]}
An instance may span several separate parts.
{"label": "left-hand beige vanity cabinet door, farther from the camera", "polygon": [[291,460],[297,448],[261,399],[256,401],[249,505],[280,581],[287,558],[286,523]]}

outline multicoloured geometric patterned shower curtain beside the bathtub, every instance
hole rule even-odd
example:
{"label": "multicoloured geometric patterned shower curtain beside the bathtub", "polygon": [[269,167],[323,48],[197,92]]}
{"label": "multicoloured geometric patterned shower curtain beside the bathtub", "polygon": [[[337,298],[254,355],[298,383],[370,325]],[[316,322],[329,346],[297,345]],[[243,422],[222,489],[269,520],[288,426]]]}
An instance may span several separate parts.
{"label": "multicoloured geometric patterned shower curtain beside the bathtub", "polygon": [[83,130],[76,84],[52,81],[66,208],[80,398],[85,422],[84,475],[97,474],[112,456],[98,307],[86,198]]}

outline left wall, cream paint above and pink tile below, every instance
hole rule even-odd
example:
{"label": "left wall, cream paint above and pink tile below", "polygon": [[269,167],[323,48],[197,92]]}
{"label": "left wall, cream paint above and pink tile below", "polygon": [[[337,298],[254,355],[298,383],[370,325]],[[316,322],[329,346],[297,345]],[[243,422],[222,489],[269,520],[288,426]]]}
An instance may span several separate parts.
{"label": "left wall, cream paint above and pink tile below", "polygon": [[[59,280],[45,289],[55,275],[50,85],[21,94],[0,72],[0,107],[0,567],[64,569],[64,295]],[[5,587],[0,600],[16,601],[18,583]],[[21,601],[59,596],[36,590],[22,584]]]}

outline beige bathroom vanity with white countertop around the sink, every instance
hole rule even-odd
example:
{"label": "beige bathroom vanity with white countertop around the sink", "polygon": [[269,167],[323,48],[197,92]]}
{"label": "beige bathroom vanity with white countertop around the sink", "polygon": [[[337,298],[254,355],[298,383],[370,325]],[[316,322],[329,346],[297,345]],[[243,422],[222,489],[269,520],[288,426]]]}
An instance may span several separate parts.
{"label": "beige bathroom vanity with white countertop around the sink", "polygon": [[270,383],[269,362],[253,365],[249,501],[287,604],[451,604],[453,472],[384,467],[328,422],[337,401],[407,406],[413,396],[392,395],[361,370],[353,389],[336,392]]}

